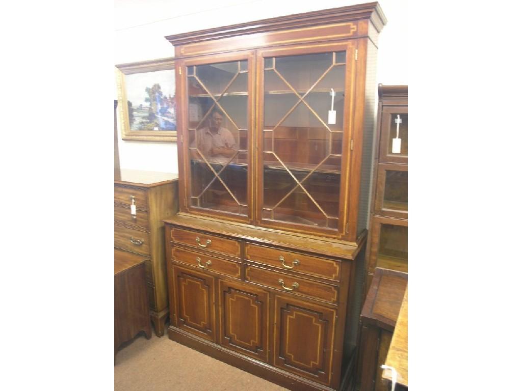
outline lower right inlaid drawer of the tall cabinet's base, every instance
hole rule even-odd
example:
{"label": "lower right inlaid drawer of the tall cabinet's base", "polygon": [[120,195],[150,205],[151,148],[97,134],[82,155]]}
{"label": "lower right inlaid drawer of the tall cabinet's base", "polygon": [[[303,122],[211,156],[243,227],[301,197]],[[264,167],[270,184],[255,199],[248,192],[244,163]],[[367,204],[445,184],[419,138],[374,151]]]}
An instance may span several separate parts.
{"label": "lower right inlaid drawer of the tall cabinet's base", "polygon": [[291,292],[295,295],[308,296],[330,303],[336,303],[339,296],[339,288],[336,286],[313,282],[293,275],[272,272],[256,266],[246,267],[245,280],[266,287],[276,288],[283,292]]}

